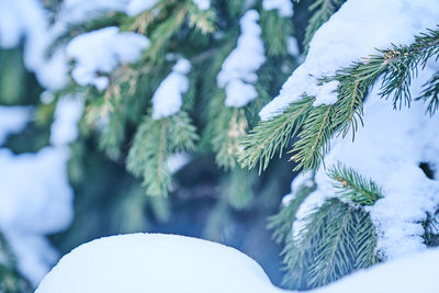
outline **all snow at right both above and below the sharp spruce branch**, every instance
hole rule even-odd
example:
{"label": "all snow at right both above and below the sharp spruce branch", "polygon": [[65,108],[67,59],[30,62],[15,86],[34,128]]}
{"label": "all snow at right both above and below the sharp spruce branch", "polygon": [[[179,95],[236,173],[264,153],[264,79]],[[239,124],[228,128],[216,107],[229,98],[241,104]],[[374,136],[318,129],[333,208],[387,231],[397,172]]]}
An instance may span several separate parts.
{"label": "all snow at right both above and below the sharp spruce branch", "polygon": [[[385,5],[385,9],[382,5]],[[357,12],[361,7],[361,12]],[[382,10],[385,14],[391,13],[392,18],[379,16]],[[375,15],[380,19],[372,18],[372,23],[369,23],[364,22],[361,15]],[[339,54],[346,54],[350,60],[358,60],[359,56],[367,56],[368,49],[373,49],[372,44],[379,44],[378,47],[385,47],[391,41],[396,44],[409,44],[415,34],[427,27],[435,27],[438,18],[439,7],[436,1],[348,1],[319,30],[312,42],[314,53],[311,54],[309,50],[306,61],[284,84],[280,97],[261,112],[261,116],[268,119],[271,115],[269,113],[280,111],[286,105],[283,102],[286,101],[288,94],[299,99],[297,94],[305,88],[307,93],[308,90],[315,91],[316,77],[334,75],[337,67],[347,66],[349,60],[338,56]],[[382,23],[376,24],[380,21]],[[341,24],[345,26],[338,26]],[[382,30],[383,35],[360,33],[358,35],[361,37],[356,38],[354,35],[361,32],[360,26],[372,32]],[[350,31],[346,27],[358,31],[352,34],[358,44],[352,43],[352,38],[342,33]],[[342,40],[330,33],[335,29],[344,35]],[[317,48],[325,48],[326,55],[323,50],[320,54],[324,55],[315,55]],[[357,50],[361,54],[358,55]],[[322,69],[317,70],[317,67],[314,67],[316,64],[320,64]],[[419,76],[413,80],[410,87],[413,97],[420,95],[421,86],[432,76],[436,68],[437,64],[430,63],[424,70],[418,70]],[[306,76],[305,69],[314,76]],[[335,101],[336,93],[333,91],[336,84],[329,82],[317,88],[320,94],[326,97],[323,100]],[[341,137],[331,139],[331,150],[325,157],[325,166],[331,167],[341,162],[360,174],[370,177],[382,187],[384,199],[369,207],[369,211],[379,236],[378,249],[392,259],[426,248],[421,222],[427,212],[432,214],[439,205],[439,200],[435,199],[439,193],[439,181],[427,178],[419,164],[438,166],[439,159],[435,154],[439,151],[439,119],[426,115],[425,105],[420,102],[413,103],[409,109],[395,111],[392,101],[380,98],[379,90],[379,87],[375,87],[365,99],[364,127],[358,129],[354,142]],[[282,106],[278,108],[281,104]],[[320,206],[327,198],[336,194],[324,167],[317,171],[315,181],[317,190],[308,195],[297,211],[293,224],[294,236],[304,227],[303,221],[306,215]]]}

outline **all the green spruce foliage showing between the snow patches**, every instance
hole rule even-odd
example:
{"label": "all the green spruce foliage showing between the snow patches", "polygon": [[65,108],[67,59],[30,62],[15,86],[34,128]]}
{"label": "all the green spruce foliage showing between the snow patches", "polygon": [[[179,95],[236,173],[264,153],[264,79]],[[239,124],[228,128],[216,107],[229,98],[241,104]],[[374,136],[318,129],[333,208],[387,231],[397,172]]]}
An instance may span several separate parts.
{"label": "all the green spruce foliage showing between the snow patches", "polygon": [[[71,60],[68,83],[50,92],[47,101],[40,98],[43,89],[25,68],[23,48],[0,48],[0,103],[34,108],[25,131],[10,135],[3,144],[15,154],[48,146],[56,105],[65,97],[85,97],[80,135],[69,145],[75,221],[66,232],[49,237],[53,245],[64,253],[112,234],[166,232],[204,237],[254,256],[271,268],[274,282],[281,279],[277,272],[280,255],[283,285],[297,290],[323,286],[384,261],[370,214],[385,198],[384,189],[374,174],[341,162],[325,166],[324,159],[333,138],[351,135],[356,139],[372,87],[380,87],[380,97],[392,100],[395,111],[424,102],[426,114],[437,114],[439,74],[424,84],[420,97],[412,97],[409,87],[429,61],[439,58],[439,29],[419,32],[410,45],[378,48],[376,54],[339,68],[335,76],[320,78],[320,84],[339,84],[333,104],[315,106],[316,97],[303,93],[281,114],[263,121],[258,116],[301,60],[291,55],[291,37],[303,40],[304,57],[316,31],[345,2],[302,1],[304,11],[295,10],[292,18],[264,10],[262,0],[212,0],[205,10],[192,0],[160,0],[135,15],[106,11],[69,24],[47,55],[77,35],[109,26],[148,37],[149,46],[134,63],[95,72],[109,79],[104,89],[80,84]],[[64,1],[44,3],[55,22]],[[254,72],[255,82],[243,83],[254,86],[258,97],[243,106],[228,106],[227,90],[217,78],[239,45],[239,22],[249,10],[259,15],[266,60]],[[304,30],[294,25],[297,15],[309,15]],[[184,75],[188,89],[181,92],[181,108],[157,119],[154,97],[181,59],[191,66]],[[171,100],[170,94],[166,98]],[[187,160],[172,169],[179,155]],[[320,206],[303,215],[307,200],[319,192],[315,176],[322,168],[333,189],[323,194]],[[434,168],[429,171],[430,179],[437,178]],[[281,203],[291,178],[304,174],[311,174],[309,179]],[[439,245],[438,212],[426,214],[423,222],[427,246]],[[0,230],[0,292],[31,290]]]}

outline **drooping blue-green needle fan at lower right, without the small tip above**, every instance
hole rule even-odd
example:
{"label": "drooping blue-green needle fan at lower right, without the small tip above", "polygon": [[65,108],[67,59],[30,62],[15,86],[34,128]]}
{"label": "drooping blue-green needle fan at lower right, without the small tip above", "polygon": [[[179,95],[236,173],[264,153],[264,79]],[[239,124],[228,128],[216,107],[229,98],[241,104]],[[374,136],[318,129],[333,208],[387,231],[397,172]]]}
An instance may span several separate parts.
{"label": "drooping blue-green needle fan at lower right, without the small tip above", "polygon": [[304,221],[297,237],[286,239],[283,251],[284,283],[290,288],[325,285],[376,261],[375,230],[362,209],[331,199]]}

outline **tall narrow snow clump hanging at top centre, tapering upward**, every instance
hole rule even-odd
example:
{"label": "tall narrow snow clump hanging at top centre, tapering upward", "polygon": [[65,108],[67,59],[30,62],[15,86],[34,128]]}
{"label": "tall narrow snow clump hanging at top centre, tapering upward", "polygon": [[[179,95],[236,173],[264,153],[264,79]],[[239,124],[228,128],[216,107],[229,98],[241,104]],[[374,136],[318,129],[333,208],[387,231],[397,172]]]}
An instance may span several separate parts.
{"label": "tall narrow snow clump hanging at top centre, tapering upward", "polygon": [[227,106],[245,106],[258,97],[256,71],[266,61],[259,14],[249,10],[240,20],[240,36],[236,48],[225,59],[217,84],[226,90]]}

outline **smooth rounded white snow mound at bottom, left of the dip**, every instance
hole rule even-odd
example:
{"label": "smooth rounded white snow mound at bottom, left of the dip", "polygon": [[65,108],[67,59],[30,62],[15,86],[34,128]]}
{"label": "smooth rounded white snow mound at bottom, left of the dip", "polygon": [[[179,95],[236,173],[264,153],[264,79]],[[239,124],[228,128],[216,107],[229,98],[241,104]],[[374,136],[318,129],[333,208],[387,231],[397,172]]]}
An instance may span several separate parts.
{"label": "smooth rounded white snow mound at bottom, left of the dip", "polygon": [[35,293],[274,293],[252,259],[196,238],[131,234],[93,240],[74,249]]}

